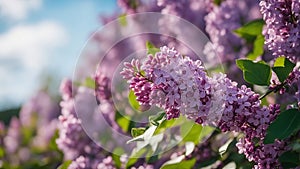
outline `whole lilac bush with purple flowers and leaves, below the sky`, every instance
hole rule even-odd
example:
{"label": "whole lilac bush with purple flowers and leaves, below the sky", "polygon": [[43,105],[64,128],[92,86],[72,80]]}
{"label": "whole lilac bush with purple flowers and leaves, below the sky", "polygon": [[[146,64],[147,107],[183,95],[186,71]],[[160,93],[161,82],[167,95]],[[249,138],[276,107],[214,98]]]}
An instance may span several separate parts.
{"label": "whole lilac bush with purple flowers and leaves, below the sky", "polygon": [[[117,3],[60,97],[1,119],[0,168],[299,168],[298,0]],[[203,56],[171,16],[208,36]]]}

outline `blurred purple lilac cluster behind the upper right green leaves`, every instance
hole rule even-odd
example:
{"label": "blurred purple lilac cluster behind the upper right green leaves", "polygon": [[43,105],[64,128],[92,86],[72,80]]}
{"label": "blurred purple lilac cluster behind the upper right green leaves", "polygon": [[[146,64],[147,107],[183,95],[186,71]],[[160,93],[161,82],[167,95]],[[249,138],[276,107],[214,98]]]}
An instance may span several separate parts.
{"label": "blurred purple lilac cluster behind the upper right green leaves", "polygon": [[214,5],[205,17],[206,32],[222,61],[234,61],[249,51],[243,39],[233,31],[248,21],[259,17],[257,0],[226,0]]}

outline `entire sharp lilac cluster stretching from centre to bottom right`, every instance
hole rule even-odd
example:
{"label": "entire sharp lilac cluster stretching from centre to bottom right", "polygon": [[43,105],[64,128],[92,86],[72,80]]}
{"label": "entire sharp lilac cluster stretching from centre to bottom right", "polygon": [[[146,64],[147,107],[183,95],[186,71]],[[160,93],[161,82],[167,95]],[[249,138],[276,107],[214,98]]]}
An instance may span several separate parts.
{"label": "entire sharp lilac cluster stretching from centre to bottom right", "polygon": [[[191,61],[165,46],[154,56],[150,54],[144,64],[136,60],[125,63],[121,74],[130,84],[133,81],[138,84],[130,88],[139,97],[163,108],[167,119],[177,118],[181,113],[199,124],[215,125],[223,132],[242,132],[245,137],[237,145],[249,161],[263,168],[279,166],[277,158],[284,150],[284,142],[271,146],[264,145],[263,140],[280,106],[261,107],[259,95],[250,88],[237,87],[237,83],[223,74],[210,78],[200,61]],[[136,78],[140,76],[143,77],[141,83]],[[150,86],[150,94],[143,92],[145,85]],[[145,100],[139,101],[144,104]]]}

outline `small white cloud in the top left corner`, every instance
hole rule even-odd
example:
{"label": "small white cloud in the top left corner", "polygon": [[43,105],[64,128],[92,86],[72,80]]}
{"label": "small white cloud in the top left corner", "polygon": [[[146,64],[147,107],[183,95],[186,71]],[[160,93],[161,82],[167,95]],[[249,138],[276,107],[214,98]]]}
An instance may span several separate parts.
{"label": "small white cloud in the top left corner", "polygon": [[31,10],[37,10],[41,5],[41,0],[0,0],[0,17],[25,19]]}

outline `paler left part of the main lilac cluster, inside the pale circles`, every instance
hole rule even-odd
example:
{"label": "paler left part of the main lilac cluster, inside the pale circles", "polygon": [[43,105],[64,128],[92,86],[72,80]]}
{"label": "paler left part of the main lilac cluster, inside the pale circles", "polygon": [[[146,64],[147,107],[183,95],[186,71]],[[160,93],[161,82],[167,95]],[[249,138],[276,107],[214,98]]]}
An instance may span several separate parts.
{"label": "paler left part of the main lilac cluster, inside the pale circles", "polygon": [[183,57],[166,46],[160,50],[155,56],[149,55],[142,67],[136,60],[124,64],[121,74],[130,83],[137,100],[142,105],[165,109],[168,119],[177,118],[182,112],[188,118],[204,121],[211,95],[201,62]]}

